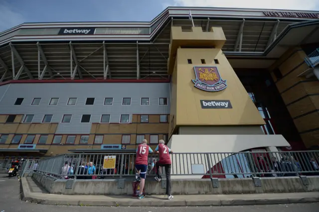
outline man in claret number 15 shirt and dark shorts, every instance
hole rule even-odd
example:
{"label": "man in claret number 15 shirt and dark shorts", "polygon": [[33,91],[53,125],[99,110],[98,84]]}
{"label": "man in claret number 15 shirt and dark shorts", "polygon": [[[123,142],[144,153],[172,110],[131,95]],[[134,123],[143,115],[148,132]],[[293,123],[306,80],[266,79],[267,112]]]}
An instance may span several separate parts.
{"label": "man in claret number 15 shirt and dark shorts", "polygon": [[139,179],[141,180],[140,195],[138,199],[144,198],[143,190],[145,185],[146,173],[148,171],[149,153],[153,153],[153,150],[151,149],[151,147],[149,147],[148,141],[144,139],[142,141],[142,144],[140,144],[136,150],[136,159],[135,159],[135,168],[137,169],[138,172],[140,172]]}

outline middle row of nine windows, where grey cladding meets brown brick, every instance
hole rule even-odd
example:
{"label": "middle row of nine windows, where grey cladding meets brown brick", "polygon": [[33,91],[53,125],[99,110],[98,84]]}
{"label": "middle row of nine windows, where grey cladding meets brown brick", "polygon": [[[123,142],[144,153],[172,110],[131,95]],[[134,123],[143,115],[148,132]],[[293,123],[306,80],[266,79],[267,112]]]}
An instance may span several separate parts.
{"label": "middle row of nine windows, where grey cladding meets brown brick", "polygon": [[[16,115],[8,115],[6,118],[6,123],[14,122]],[[34,118],[34,114],[27,114],[23,119],[23,123],[32,123]],[[52,114],[45,114],[42,119],[42,123],[51,123],[53,118]],[[62,117],[61,123],[70,123],[72,119],[71,114],[65,114]],[[100,123],[110,123],[111,115],[110,114],[102,114]],[[90,123],[91,115],[90,114],[83,114],[81,117],[81,123]],[[130,122],[130,115],[129,114],[122,114],[120,116],[120,123],[129,123]],[[148,123],[149,122],[149,115],[140,115],[140,122]],[[160,122],[167,122],[167,115],[160,115]]]}

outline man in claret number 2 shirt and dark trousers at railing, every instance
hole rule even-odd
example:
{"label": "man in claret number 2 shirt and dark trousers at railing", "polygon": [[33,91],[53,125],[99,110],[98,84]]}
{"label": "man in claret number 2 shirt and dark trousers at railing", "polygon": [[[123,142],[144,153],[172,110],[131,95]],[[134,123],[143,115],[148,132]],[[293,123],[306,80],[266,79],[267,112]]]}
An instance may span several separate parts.
{"label": "man in claret number 2 shirt and dark trousers at railing", "polygon": [[165,168],[165,174],[166,174],[166,195],[167,200],[171,200],[174,197],[170,194],[170,168],[171,168],[171,160],[169,157],[169,153],[173,153],[166,145],[164,140],[159,141],[159,145],[156,147],[155,151],[156,153],[160,154],[160,160],[156,162],[156,174],[155,180],[160,182],[160,167]]}

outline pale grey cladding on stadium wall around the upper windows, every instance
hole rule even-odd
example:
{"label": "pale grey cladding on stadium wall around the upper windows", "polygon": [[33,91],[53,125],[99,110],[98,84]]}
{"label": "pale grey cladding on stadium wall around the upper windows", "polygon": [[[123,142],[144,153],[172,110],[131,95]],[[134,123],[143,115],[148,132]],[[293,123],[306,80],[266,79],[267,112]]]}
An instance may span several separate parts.
{"label": "pale grey cladding on stadium wall around the upper windows", "polygon": [[[0,92],[4,86],[0,86]],[[4,89],[6,90],[6,89]],[[122,106],[123,98],[132,98],[131,106]],[[14,106],[16,98],[24,98],[21,106]],[[41,98],[39,106],[31,106],[33,98]],[[59,98],[57,106],[49,106],[51,98]],[[77,98],[75,106],[68,106],[69,98]],[[95,98],[93,106],[86,106],[86,98]],[[104,106],[105,98],[113,98],[112,106]],[[141,98],[150,98],[149,106],[141,106]],[[167,98],[168,105],[160,106],[159,98]],[[60,123],[56,133],[87,134],[91,124],[80,123],[82,114],[91,114],[92,122],[100,122],[101,114],[110,114],[110,122],[119,123],[121,114],[169,114],[168,83],[34,83],[10,84],[0,102],[1,114],[34,114],[32,122],[42,122],[44,114],[53,114],[52,122],[61,122],[63,114],[72,114],[71,123]]]}

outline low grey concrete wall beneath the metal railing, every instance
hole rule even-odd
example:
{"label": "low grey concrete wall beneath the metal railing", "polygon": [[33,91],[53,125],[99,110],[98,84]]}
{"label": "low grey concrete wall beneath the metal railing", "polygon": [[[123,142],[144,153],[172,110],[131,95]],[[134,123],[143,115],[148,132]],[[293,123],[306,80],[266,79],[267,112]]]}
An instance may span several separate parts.
{"label": "low grey concrete wall beneath the metal railing", "polygon": [[[33,174],[51,194],[64,195],[132,195],[132,181],[125,181],[124,189],[118,189],[118,180],[74,180],[72,188],[66,189],[67,180],[53,180],[39,174]],[[196,194],[258,194],[258,193],[295,193],[318,192],[319,177],[308,177],[309,185],[305,186],[299,177],[261,178],[261,187],[255,187],[252,179],[219,179],[219,187],[213,188],[210,179],[176,179],[172,180],[171,193],[175,195]],[[161,183],[147,181],[145,193],[148,195],[164,195]]]}

